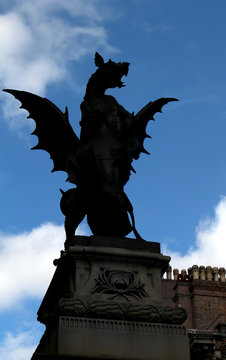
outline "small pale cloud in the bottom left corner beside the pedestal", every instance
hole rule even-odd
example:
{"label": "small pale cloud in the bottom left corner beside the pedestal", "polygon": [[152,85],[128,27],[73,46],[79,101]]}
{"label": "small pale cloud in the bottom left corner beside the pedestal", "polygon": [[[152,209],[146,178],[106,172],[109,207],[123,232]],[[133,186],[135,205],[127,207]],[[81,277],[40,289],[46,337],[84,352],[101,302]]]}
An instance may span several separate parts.
{"label": "small pale cloud in the bottom left corner beside the pedestal", "polygon": [[4,334],[0,342],[0,360],[28,360],[31,358],[40,339],[41,332],[31,326],[29,331],[17,335]]}

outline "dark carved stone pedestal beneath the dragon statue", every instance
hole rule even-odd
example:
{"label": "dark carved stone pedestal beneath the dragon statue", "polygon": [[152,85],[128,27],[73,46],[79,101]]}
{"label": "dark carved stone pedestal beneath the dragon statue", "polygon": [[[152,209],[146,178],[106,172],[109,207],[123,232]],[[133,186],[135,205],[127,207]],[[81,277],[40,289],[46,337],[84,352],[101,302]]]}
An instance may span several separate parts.
{"label": "dark carved stone pedestal beneath the dragon statue", "polygon": [[76,236],[38,311],[37,359],[189,360],[183,308],[161,299],[158,243]]}

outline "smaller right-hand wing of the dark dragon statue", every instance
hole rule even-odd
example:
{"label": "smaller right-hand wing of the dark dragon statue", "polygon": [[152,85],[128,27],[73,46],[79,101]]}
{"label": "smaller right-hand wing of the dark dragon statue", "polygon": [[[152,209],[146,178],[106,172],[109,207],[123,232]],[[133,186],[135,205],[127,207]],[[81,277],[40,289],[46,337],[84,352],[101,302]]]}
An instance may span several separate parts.
{"label": "smaller right-hand wing of the dark dragon statue", "polygon": [[162,107],[170,101],[178,101],[175,98],[160,98],[155,101],[150,101],[145,105],[136,115],[134,119],[134,132],[135,137],[142,144],[141,152],[149,154],[147,150],[144,149],[143,143],[145,138],[150,136],[146,133],[146,127],[149,120],[154,120],[154,115],[157,112],[162,112]]}

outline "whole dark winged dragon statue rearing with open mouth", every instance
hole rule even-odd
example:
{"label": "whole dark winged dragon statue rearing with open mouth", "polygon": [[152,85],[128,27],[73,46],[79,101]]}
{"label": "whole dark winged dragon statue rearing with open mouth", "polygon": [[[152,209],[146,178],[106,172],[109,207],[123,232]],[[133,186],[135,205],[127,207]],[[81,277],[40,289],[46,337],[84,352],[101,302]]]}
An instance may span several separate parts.
{"label": "whole dark winged dragon statue rearing with open mouth", "polygon": [[125,237],[135,228],[133,207],[124,192],[130,177],[132,161],[144,149],[149,120],[175,98],[150,101],[136,115],[125,110],[114,97],[106,95],[109,88],[124,86],[128,62],[104,62],[95,54],[96,72],[90,77],[81,103],[80,138],[74,133],[67,107],[63,113],[46,98],[35,94],[4,89],[21,102],[36,122],[32,134],[38,137],[33,149],[46,150],[53,160],[52,171],[65,171],[67,180],[76,187],[62,192],[61,211],[65,215],[66,242],[74,237],[81,221],[87,216],[94,235]]}

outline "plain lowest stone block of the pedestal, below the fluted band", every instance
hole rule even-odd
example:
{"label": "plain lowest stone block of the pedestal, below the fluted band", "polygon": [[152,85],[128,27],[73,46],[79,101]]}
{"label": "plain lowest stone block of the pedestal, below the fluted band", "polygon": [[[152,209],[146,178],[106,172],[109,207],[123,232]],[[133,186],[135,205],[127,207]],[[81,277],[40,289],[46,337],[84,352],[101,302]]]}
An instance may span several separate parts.
{"label": "plain lowest stone block of the pedestal, below the fluted band", "polygon": [[51,358],[45,349],[50,343],[57,343],[60,359],[190,359],[186,329],[178,325],[60,316],[55,337],[45,334],[32,360],[43,359],[45,351]]}

